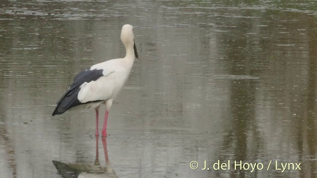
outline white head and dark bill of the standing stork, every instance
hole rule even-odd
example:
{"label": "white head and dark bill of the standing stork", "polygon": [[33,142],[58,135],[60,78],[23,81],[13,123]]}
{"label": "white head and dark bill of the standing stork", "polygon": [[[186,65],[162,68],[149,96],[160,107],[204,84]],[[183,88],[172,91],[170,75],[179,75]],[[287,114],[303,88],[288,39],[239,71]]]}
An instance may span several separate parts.
{"label": "white head and dark bill of the standing stork", "polygon": [[125,47],[133,45],[134,54],[138,58],[138,52],[134,43],[133,27],[132,25],[125,24],[121,30],[121,41]]}

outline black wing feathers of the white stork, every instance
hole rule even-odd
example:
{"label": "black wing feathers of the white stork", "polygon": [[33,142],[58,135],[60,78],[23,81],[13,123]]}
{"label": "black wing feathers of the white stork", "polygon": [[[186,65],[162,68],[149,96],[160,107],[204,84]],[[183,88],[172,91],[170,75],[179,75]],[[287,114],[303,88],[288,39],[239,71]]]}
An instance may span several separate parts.
{"label": "black wing feathers of the white stork", "polygon": [[[103,71],[104,71],[103,69],[98,69],[98,70],[86,69],[78,73],[74,79],[74,82],[69,87],[69,89],[57,101],[57,106],[52,115],[54,116],[57,114],[62,114],[72,107],[78,106],[80,104],[85,104],[85,103],[81,103],[77,97],[78,92],[80,91],[80,86],[85,82],[89,83],[91,81],[96,81],[100,77],[104,76]],[[97,101],[90,101],[90,102],[97,102]],[[89,103],[89,102],[86,102],[86,103]]]}

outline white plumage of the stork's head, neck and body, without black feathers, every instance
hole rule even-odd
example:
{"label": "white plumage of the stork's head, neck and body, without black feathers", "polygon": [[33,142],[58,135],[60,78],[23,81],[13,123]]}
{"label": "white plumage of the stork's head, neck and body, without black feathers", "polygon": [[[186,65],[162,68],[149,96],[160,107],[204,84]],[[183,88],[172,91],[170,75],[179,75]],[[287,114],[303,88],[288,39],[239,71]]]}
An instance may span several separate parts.
{"label": "white plumage of the stork's head, neck and body, without black feathers", "polygon": [[103,69],[104,76],[96,81],[85,82],[80,86],[78,100],[81,103],[103,100],[84,104],[85,108],[98,108],[101,104],[106,104],[106,110],[108,111],[113,99],[117,97],[128,79],[135,56],[137,56],[134,48],[133,27],[131,25],[126,24],[122,27],[121,41],[125,46],[125,57],[93,65],[90,70]]}

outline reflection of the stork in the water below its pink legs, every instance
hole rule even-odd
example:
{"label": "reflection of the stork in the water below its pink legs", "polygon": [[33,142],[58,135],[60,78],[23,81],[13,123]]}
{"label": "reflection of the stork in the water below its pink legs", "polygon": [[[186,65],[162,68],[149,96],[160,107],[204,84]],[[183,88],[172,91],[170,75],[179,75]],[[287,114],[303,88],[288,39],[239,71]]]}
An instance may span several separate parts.
{"label": "reflection of the stork in the water below its pink legs", "polygon": [[106,167],[102,167],[99,162],[98,137],[96,137],[96,159],[94,165],[62,163],[53,161],[54,166],[63,178],[118,178],[115,171],[111,168],[108,159],[106,137],[102,137]]}

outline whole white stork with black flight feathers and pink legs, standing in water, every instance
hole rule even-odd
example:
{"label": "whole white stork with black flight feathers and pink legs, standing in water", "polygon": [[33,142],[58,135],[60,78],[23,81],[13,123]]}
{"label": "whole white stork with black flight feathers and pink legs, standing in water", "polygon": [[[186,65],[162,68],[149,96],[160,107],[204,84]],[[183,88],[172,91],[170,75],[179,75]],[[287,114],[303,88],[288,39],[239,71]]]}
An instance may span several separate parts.
{"label": "whole white stork with black flight feathers and pink legs, standing in water", "polygon": [[112,101],[124,86],[131,72],[134,58],[138,58],[134,44],[133,27],[131,25],[123,25],[121,41],[125,46],[125,57],[93,65],[77,74],[74,82],[57,102],[53,116],[62,114],[68,109],[78,105],[84,105],[85,108],[95,108],[96,136],[98,136],[98,111],[101,104],[106,104],[105,120],[102,130],[102,135],[106,136],[108,112]]}

